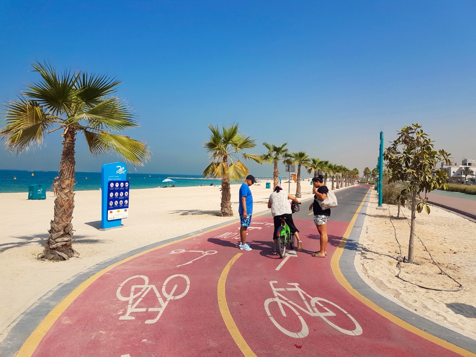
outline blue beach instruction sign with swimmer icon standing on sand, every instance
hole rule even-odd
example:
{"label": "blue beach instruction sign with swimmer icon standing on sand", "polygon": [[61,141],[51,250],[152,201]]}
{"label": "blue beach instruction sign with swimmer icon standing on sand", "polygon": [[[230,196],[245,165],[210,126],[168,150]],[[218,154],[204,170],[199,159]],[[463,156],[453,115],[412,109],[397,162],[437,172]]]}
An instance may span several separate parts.
{"label": "blue beach instruction sign with swimmer icon standing on sand", "polygon": [[101,228],[120,227],[129,217],[129,181],[123,162],[104,164],[101,168]]}

